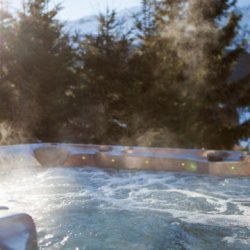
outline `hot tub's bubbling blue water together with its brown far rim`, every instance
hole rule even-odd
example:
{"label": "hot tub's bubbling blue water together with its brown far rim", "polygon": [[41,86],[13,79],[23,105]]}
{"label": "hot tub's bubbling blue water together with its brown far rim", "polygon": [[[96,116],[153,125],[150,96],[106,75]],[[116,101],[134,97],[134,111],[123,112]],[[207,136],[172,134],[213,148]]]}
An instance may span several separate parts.
{"label": "hot tub's bubbling blue water together with its brown far rim", "polygon": [[249,249],[248,155],[210,153],[2,147],[0,205],[32,216],[39,249]]}

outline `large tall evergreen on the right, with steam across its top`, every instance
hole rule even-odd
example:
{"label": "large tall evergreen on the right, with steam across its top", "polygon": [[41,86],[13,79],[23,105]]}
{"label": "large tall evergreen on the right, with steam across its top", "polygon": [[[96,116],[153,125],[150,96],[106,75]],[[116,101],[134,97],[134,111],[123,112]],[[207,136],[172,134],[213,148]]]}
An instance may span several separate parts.
{"label": "large tall evergreen on the right, with steam across its top", "polygon": [[176,126],[182,146],[231,148],[249,133],[238,112],[249,107],[249,77],[230,81],[244,49],[233,45],[240,20],[234,6],[230,0],[165,0],[159,6],[162,34],[183,69]]}

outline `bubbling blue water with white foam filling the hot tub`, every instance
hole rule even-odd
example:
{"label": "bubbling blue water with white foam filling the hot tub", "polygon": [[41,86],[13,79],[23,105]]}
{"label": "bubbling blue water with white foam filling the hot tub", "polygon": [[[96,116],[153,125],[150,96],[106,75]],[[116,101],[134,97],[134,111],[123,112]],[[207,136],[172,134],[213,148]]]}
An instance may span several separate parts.
{"label": "bubbling blue water with white foam filling the hot tub", "polygon": [[1,171],[41,249],[249,249],[250,179],[96,168]]}

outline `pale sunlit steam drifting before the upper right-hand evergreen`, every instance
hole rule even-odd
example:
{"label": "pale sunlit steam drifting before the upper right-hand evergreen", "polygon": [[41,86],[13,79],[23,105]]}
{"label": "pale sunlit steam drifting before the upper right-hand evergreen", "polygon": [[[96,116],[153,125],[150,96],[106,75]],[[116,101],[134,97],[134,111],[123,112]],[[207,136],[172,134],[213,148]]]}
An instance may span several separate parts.
{"label": "pale sunlit steam drifting before the upper right-hand evergreen", "polygon": [[211,74],[207,56],[218,45],[220,27],[211,18],[218,3],[215,0],[181,0],[169,4],[163,35],[184,62],[190,80],[202,83]]}

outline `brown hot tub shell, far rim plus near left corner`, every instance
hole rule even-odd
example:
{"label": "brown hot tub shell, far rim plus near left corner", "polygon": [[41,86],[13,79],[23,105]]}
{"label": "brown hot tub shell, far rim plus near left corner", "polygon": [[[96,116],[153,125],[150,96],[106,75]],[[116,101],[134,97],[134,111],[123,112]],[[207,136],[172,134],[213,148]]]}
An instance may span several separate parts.
{"label": "brown hot tub shell, far rim plus near left corner", "polygon": [[[240,151],[32,144],[0,147],[0,166],[101,167],[128,170],[250,176],[250,154]],[[6,210],[6,209],[3,209]],[[23,213],[0,209],[0,249],[37,249],[36,228]]]}

